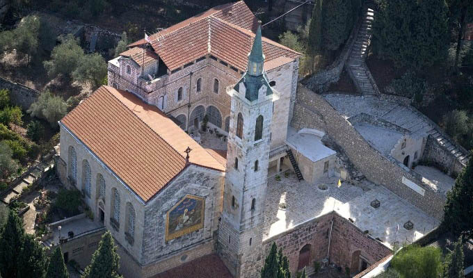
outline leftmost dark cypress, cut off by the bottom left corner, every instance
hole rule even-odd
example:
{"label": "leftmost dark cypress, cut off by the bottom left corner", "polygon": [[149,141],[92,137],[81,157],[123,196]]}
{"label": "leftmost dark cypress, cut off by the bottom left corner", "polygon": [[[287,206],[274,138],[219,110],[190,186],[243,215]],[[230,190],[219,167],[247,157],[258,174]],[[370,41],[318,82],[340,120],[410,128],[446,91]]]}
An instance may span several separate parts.
{"label": "leftmost dark cypress, cut off by the bottom left corner", "polygon": [[17,277],[17,259],[22,255],[24,237],[21,218],[10,211],[0,232],[0,274],[3,277]]}

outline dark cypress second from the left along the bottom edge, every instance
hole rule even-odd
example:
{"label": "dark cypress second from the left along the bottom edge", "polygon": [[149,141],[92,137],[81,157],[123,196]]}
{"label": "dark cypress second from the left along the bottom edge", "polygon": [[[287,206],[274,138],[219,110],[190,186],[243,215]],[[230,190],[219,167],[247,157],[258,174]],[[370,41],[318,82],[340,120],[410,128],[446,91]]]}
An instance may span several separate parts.
{"label": "dark cypress second from the left along the bottom edge", "polygon": [[45,277],[47,256],[40,243],[32,235],[26,235],[21,249],[22,254],[17,258],[17,277]]}

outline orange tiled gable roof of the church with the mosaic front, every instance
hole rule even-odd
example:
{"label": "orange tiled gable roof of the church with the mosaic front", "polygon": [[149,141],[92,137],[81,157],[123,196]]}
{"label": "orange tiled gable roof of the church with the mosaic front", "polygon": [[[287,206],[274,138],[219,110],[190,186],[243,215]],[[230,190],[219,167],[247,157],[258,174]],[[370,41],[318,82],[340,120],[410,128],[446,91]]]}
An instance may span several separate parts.
{"label": "orange tiled gable roof of the church with the mosaic front", "polygon": [[129,92],[98,88],[61,120],[144,202],[164,188],[189,163],[225,171],[169,117]]}

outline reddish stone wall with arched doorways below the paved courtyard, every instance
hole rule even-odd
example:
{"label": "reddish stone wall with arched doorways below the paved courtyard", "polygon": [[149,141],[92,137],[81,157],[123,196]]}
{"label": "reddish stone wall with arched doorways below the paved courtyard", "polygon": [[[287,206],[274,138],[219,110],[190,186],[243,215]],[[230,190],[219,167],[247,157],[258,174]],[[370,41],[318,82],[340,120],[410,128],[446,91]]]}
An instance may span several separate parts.
{"label": "reddish stone wall with arched doorways below the paved courtyard", "polygon": [[328,258],[329,263],[350,268],[352,274],[359,272],[358,263],[354,264],[353,261],[358,262],[360,256],[367,263],[373,264],[391,253],[388,247],[364,234],[353,223],[335,212],[319,216],[278,236],[268,238],[263,243],[265,256],[271,250],[273,242],[278,248],[282,247],[284,255],[289,259],[289,268],[294,277],[298,270],[299,252],[305,245],[310,245],[309,266],[312,266],[314,261],[320,262]]}

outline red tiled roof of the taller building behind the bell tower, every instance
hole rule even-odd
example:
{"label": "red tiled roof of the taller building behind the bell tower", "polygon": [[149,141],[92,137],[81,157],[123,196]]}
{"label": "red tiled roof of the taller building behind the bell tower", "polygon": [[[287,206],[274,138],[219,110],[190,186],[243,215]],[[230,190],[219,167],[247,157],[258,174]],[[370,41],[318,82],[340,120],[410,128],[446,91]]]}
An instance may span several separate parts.
{"label": "red tiled roof of the taller building behind the bell tower", "polygon": [[[154,51],[171,71],[207,54],[244,71],[257,24],[257,18],[248,6],[239,1],[211,8],[150,35],[150,40]],[[144,39],[138,40],[129,44],[129,47],[144,43]],[[278,59],[275,61],[280,65],[300,56],[298,52],[268,38],[263,38],[263,52],[266,62]]]}

